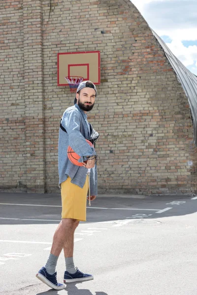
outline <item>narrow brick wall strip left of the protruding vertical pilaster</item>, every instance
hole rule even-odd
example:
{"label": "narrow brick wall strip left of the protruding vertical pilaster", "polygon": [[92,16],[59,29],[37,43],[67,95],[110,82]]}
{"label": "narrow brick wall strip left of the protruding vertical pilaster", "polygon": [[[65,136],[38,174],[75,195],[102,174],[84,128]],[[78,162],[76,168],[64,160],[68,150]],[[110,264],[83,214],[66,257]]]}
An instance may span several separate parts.
{"label": "narrow brick wall strip left of the protruding vertical pilaster", "polygon": [[1,189],[26,185],[25,90],[22,1],[0,1]]}

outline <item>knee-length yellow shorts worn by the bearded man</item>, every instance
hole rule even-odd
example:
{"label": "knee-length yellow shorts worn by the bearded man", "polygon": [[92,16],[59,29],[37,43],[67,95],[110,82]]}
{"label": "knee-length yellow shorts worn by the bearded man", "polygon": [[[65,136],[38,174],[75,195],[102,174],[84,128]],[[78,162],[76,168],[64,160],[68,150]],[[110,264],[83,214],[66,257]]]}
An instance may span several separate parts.
{"label": "knee-length yellow shorts worn by the bearded man", "polygon": [[88,175],[83,188],[71,183],[70,177],[67,177],[67,179],[61,183],[62,218],[73,218],[79,221],[86,221],[88,188]]}

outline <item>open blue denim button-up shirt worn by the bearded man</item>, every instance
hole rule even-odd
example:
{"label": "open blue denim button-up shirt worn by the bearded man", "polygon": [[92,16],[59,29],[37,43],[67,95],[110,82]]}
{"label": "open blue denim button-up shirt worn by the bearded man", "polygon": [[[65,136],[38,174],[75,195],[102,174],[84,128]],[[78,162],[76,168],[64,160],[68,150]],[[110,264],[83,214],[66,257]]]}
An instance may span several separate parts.
{"label": "open blue denim button-up shirt worn by the bearded man", "polygon": [[[61,128],[59,130],[59,186],[61,187],[61,183],[69,176],[71,178],[71,183],[74,183],[82,188],[86,181],[88,169],[72,164],[67,156],[67,148],[70,146],[80,156],[79,162],[84,162],[86,160],[86,156],[96,155],[96,150],[91,148],[86,142],[86,139],[90,138],[90,127],[87,115],[77,104],[75,104],[74,106],[66,109],[61,123],[66,129],[66,132],[64,132]],[[97,165],[91,169],[90,193],[91,196],[97,196],[98,194]]]}

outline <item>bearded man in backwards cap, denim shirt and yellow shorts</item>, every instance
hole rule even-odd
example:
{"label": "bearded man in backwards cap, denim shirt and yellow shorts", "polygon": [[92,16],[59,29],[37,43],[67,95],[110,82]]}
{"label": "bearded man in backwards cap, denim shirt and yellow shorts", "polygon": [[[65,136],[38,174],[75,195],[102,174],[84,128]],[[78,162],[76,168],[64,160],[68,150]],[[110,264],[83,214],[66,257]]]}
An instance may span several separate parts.
{"label": "bearded man in backwards cap, denim shirt and yellow shorts", "polygon": [[[77,88],[74,106],[69,107],[63,114],[59,131],[58,169],[59,186],[62,197],[62,221],[54,237],[48,261],[36,277],[49,287],[62,290],[64,284],[57,282],[56,265],[59,255],[64,249],[66,271],[64,283],[88,281],[94,277],[83,273],[73,262],[74,231],[79,221],[86,221],[86,202],[89,189],[89,202],[97,196],[97,155],[86,139],[92,143],[99,134],[87,120],[87,112],[95,104],[97,89],[91,81],[81,82]],[[67,157],[67,148],[70,146],[79,156],[83,166],[72,164]],[[89,179],[90,177],[90,179]],[[90,182],[90,187],[89,187]]]}

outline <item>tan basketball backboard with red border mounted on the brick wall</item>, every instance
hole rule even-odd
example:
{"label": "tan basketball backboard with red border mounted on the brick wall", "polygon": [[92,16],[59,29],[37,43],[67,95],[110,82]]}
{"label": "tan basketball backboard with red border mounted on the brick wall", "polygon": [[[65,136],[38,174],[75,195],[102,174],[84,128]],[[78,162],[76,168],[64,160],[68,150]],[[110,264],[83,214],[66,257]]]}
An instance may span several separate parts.
{"label": "tan basketball backboard with red border mounted on the brick wall", "polygon": [[72,76],[100,84],[100,52],[58,53],[58,86],[67,86],[65,77]]}

